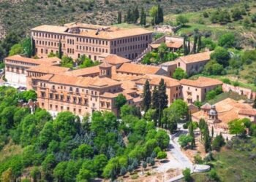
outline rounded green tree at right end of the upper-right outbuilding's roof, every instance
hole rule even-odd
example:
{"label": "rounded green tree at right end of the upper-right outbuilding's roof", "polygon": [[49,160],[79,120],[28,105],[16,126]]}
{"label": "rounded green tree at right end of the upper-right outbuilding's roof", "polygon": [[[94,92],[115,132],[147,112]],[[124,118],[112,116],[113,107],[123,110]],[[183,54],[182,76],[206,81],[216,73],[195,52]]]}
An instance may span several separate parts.
{"label": "rounded green tree at right end of the upper-right outbuilding's roof", "polygon": [[222,66],[228,66],[228,60],[230,59],[229,52],[223,47],[217,47],[214,52],[211,53],[211,59],[216,60],[217,63]]}

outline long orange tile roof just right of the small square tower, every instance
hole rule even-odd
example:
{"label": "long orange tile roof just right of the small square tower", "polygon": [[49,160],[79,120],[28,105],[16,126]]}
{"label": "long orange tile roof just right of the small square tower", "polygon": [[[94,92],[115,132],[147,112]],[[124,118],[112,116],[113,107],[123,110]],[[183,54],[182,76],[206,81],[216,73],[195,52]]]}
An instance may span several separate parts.
{"label": "long orange tile roof just right of the small square tower", "polygon": [[131,74],[157,74],[161,68],[158,66],[147,66],[147,65],[138,65],[133,63],[124,63],[116,71],[121,71]]}

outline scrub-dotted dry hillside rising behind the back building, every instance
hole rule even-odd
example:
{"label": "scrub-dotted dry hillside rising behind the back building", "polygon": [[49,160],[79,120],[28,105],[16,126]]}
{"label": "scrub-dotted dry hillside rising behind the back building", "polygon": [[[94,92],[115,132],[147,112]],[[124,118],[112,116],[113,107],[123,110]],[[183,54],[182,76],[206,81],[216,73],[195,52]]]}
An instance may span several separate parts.
{"label": "scrub-dotted dry hillside rising behind the back building", "polygon": [[[164,7],[165,15],[198,11],[210,7],[228,7],[241,0],[158,0]],[[64,24],[73,21],[94,24],[116,23],[118,10],[138,5],[149,9],[157,1],[153,0],[1,0],[0,39],[7,31],[29,32],[40,24]]]}

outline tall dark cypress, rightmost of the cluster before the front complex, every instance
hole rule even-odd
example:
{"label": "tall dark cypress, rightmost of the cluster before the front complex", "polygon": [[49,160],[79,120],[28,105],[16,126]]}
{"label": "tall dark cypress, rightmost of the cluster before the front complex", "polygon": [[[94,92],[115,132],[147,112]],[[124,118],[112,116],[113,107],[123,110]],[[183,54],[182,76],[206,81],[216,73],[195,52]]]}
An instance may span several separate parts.
{"label": "tall dark cypress, rightmost of the cluster before the front complex", "polygon": [[167,108],[168,104],[168,97],[166,95],[166,84],[164,79],[161,79],[159,82],[159,89],[158,89],[158,101],[159,101],[159,108],[158,108],[158,121],[160,122],[162,119],[162,111],[164,108]]}

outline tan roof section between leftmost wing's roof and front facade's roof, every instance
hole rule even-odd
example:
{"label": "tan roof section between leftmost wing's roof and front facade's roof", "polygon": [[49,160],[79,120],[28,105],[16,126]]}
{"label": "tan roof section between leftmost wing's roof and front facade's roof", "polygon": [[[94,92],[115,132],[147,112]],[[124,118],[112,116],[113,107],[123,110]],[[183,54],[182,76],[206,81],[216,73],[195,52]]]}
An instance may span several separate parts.
{"label": "tan roof section between leftmost wing's roof and front facade's roof", "polygon": [[39,65],[39,66],[29,68],[27,71],[39,72],[42,74],[61,74],[66,71],[69,71],[69,68],[64,68],[60,66]]}

